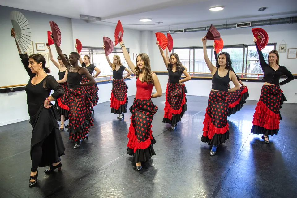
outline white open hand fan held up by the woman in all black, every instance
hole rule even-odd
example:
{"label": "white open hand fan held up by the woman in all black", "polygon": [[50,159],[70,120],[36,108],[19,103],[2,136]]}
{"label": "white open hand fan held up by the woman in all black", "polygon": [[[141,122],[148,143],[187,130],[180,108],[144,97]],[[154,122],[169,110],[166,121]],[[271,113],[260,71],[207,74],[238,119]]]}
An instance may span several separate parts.
{"label": "white open hand fan held up by the woman in all black", "polygon": [[25,54],[31,45],[31,29],[26,17],[19,11],[10,13],[12,27],[15,30],[15,38],[19,44],[19,49],[22,54]]}

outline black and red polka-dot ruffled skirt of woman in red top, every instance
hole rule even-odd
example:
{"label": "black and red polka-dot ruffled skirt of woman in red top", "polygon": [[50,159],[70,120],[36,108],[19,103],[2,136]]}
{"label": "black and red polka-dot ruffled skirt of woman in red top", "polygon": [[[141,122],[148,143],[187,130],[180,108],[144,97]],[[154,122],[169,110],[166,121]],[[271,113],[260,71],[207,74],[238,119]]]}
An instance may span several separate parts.
{"label": "black and red polka-dot ruffled skirt of woman in red top", "polygon": [[133,105],[130,107],[131,124],[127,137],[127,153],[133,155],[133,162],[143,162],[156,155],[153,145],[156,140],[151,130],[154,114],[158,107],[149,99],[134,98]]}

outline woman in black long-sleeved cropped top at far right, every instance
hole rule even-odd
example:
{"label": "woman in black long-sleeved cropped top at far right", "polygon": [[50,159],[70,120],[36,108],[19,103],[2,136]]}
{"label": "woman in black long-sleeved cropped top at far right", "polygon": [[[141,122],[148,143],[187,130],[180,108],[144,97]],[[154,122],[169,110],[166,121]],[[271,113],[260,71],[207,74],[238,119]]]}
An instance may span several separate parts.
{"label": "woman in black long-sleeved cropped top at far right", "polygon": [[[255,37],[254,42],[257,42]],[[279,86],[294,80],[294,76],[286,67],[278,65],[278,51],[273,50],[269,52],[267,64],[262,51],[257,45],[256,47],[259,54],[260,65],[264,73],[262,81],[265,83],[261,89],[260,100],[255,108],[256,112],[253,116],[251,132],[253,134],[263,134],[262,139],[268,144],[268,136],[278,134],[279,121],[282,119],[279,110],[282,107],[282,103],[286,101],[286,97]],[[288,78],[279,82],[282,75],[286,75]]]}

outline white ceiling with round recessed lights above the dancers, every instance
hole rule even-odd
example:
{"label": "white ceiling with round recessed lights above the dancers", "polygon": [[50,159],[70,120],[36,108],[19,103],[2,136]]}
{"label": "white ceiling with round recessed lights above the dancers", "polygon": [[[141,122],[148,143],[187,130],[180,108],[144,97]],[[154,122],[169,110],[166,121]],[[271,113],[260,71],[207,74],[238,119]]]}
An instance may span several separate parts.
{"label": "white ceiling with round recessed lights above the dancers", "polygon": [[[80,15],[100,17],[97,24],[113,25],[121,20],[124,28],[169,30],[254,20],[297,16],[296,0],[5,0],[0,5],[80,19]],[[34,5],[34,6],[32,6]],[[222,11],[209,7],[224,6]],[[265,11],[258,11],[267,7]],[[151,22],[140,22],[141,18]],[[156,22],[161,21],[161,24]],[[129,25],[138,24],[138,25]],[[153,24],[153,25],[141,25]]]}

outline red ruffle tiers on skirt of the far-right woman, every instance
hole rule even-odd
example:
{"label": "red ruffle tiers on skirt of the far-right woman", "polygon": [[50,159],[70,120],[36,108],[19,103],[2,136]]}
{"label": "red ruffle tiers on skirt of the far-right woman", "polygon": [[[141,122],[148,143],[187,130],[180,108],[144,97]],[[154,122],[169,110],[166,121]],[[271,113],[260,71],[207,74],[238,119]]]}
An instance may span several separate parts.
{"label": "red ruffle tiers on skirt of the far-right woman", "polygon": [[262,101],[257,103],[252,123],[265,129],[279,129],[279,114],[272,112]]}

